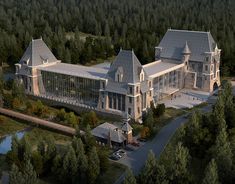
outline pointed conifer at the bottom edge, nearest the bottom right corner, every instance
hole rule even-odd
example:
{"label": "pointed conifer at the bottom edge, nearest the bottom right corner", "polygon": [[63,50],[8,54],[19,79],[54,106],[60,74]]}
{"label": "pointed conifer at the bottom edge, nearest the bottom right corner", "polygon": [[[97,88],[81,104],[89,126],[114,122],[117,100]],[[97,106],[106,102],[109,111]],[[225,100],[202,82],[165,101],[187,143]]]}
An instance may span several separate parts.
{"label": "pointed conifer at the bottom edge, nearest the bottom right corner", "polygon": [[217,165],[214,159],[210,161],[205,169],[205,177],[202,184],[219,184]]}

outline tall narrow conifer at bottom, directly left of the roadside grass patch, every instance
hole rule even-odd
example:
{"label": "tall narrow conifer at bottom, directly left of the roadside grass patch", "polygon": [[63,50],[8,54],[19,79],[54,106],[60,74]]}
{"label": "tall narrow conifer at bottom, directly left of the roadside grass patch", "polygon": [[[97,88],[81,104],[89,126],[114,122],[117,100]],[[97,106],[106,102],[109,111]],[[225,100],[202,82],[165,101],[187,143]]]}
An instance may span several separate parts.
{"label": "tall narrow conifer at bottom, directly left of the roadside grass patch", "polygon": [[96,147],[92,147],[88,153],[88,180],[89,183],[95,183],[97,177],[100,174],[100,160],[96,151]]}

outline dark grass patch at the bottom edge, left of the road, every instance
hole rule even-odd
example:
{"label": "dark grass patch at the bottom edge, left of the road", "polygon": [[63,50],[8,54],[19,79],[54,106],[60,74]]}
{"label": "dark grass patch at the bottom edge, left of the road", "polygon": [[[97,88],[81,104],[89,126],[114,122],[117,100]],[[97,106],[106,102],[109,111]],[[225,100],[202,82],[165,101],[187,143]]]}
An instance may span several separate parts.
{"label": "dark grass patch at the bottom edge, left of the road", "polygon": [[125,172],[126,169],[126,166],[116,162],[112,162],[110,164],[110,168],[99,177],[99,181],[97,183],[115,183],[115,181]]}

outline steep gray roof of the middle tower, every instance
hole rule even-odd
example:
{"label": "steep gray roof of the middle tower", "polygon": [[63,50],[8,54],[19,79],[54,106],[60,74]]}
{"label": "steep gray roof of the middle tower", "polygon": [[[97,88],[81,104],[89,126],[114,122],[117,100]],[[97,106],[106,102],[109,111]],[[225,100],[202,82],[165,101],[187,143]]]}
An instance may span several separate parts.
{"label": "steep gray roof of the middle tower", "polygon": [[123,82],[140,82],[139,74],[143,67],[133,51],[120,50],[116,59],[110,66],[108,77],[115,80],[115,73],[118,68],[123,69]]}

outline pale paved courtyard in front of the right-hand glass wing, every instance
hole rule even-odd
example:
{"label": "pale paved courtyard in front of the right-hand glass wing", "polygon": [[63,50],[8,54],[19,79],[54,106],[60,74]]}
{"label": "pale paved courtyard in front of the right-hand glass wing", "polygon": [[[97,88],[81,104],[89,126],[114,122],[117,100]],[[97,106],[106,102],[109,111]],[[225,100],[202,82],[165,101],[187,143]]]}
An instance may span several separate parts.
{"label": "pale paved courtyard in front of the right-hand glass wing", "polygon": [[164,103],[166,107],[173,107],[176,109],[192,108],[206,102],[209,97],[210,93],[207,92],[183,89],[168,98],[159,101],[159,103]]}

